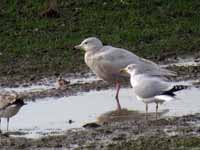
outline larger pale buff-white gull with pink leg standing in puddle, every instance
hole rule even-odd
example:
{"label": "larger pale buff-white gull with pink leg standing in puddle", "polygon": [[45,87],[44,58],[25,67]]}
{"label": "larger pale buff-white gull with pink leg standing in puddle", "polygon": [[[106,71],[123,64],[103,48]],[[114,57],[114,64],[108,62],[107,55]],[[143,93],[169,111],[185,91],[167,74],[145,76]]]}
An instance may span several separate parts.
{"label": "larger pale buff-white gull with pink leg standing in puddle", "polygon": [[109,82],[115,82],[117,93],[116,100],[118,109],[121,109],[118,94],[120,89],[120,78],[125,75],[120,74],[119,70],[129,64],[138,64],[142,73],[157,76],[174,75],[174,72],[160,68],[152,61],[142,59],[128,50],[112,46],[103,46],[102,42],[90,37],[85,39],[76,49],[85,50],[85,63],[101,79]]}

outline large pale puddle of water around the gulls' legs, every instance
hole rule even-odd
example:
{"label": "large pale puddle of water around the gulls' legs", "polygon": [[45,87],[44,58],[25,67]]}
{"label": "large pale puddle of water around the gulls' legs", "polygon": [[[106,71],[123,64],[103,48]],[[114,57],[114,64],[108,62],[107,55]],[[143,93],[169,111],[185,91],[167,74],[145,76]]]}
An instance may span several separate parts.
{"label": "large pale puddle of water around the gulls' legs", "polygon": [[[17,136],[37,138],[49,134],[62,134],[64,130],[82,127],[96,121],[101,114],[116,109],[113,89],[91,91],[78,96],[44,98],[29,102],[11,118],[10,131],[20,131]],[[177,93],[179,99],[160,105],[159,110],[169,109],[166,116],[181,116],[200,112],[200,90],[189,89]],[[144,112],[145,105],[136,100],[131,89],[121,89],[120,102],[123,108]],[[155,111],[155,105],[149,105]],[[6,121],[2,121],[5,130]],[[16,136],[16,135],[15,135]]]}

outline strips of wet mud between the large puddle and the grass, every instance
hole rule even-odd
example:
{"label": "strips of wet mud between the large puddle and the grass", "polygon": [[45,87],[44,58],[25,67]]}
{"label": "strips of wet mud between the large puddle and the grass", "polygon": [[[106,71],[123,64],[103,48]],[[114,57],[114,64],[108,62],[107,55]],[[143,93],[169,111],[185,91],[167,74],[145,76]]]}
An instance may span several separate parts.
{"label": "strips of wet mud between the large puddle and the grass", "polygon": [[[176,65],[170,65],[166,67],[170,70],[173,70],[177,73],[177,76],[168,77],[170,81],[187,81],[187,80],[195,80],[192,84],[195,87],[199,87],[200,85],[200,66],[176,66]],[[37,75],[35,75],[37,76]],[[103,90],[108,88],[115,88],[114,83],[107,83],[102,80],[94,80],[90,83],[73,83],[71,84],[71,81],[68,80],[68,78],[89,78],[93,76],[96,78],[96,76],[93,73],[88,73],[88,69],[86,68],[82,73],[66,73],[66,74],[57,74],[53,76],[40,76],[38,75],[37,78],[35,77],[34,80],[32,80],[32,77],[24,77],[21,75],[16,75],[15,78],[5,77],[0,78],[0,85],[1,87],[11,87],[16,88],[19,86],[27,87],[33,84],[36,85],[45,85],[48,84],[47,80],[50,80],[51,82],[57,83],[57,79],[62,76],[63,78],[67,79],[66,81],[69,82],[66,84],[66,86],[62,89],[51,88],[47,90],[37,91],[37,92],[25,92],[21,94],[21,96],[29,101],[29,100],[36,100],[38,98],[45,98],[45,97],[62,97],[62,96],[72,96],[76,95],[80,92],[88,92],[90,90]],[[127,79],[122,83],[123,87],[130,87],[129,80]]]}

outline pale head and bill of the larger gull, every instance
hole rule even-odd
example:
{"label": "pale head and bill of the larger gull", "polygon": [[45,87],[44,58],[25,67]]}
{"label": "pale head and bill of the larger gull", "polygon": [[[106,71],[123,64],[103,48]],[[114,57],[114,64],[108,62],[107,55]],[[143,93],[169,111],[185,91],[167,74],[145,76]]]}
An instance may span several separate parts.
{"label": "pale head and bill of the larger gull", "polygon": [[103,47],[102,42],[96,37],[89,37],[81,42],[81,44],[75,46],[76,49],[83,49],[87,51],[96,51]]}

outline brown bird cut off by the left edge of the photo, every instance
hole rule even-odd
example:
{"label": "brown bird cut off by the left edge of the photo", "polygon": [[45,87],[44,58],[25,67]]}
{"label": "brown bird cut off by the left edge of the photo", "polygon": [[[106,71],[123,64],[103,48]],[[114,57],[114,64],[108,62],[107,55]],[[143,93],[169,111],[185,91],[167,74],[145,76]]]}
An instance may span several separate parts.
{"label": "brown bird cut off by the left edge of the photo", "polygon": [[0,94],[0,130],[1,118],[7,118],[7,132],[9,127],[9,119],[15,116],[20,108],[25,105],[22,98],[15,92],[6,92]]}

